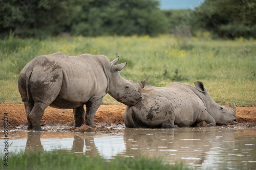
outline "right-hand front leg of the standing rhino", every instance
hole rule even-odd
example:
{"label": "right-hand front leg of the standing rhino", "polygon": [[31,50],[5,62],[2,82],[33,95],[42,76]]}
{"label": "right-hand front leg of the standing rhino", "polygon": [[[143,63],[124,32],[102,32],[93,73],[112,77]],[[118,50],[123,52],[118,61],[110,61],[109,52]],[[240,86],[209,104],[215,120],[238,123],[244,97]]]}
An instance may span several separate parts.
{"label": "right-hand front leg of the standing rhino", "polygon": [[99,100],[88,101],[86,103],[86,125],[93,126],[93,120],[103,98]]}

